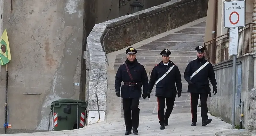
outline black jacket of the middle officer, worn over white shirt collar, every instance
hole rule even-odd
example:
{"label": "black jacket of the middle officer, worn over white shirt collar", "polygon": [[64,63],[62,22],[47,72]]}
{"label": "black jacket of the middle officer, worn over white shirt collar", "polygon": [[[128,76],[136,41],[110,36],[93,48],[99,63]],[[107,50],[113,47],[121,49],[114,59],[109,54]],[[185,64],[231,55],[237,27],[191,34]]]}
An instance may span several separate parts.
{"label": "black jacket of the middle officer, worn over white shirt collar", "polygon": [[[167,70],[172,67],[173,62],[169,61],[168,66],[164,65],[163,61],[157,64],[151,72],[150,80],[149,80],[149,91],[151,91],[156,83],[156,81],[164,75]],[[179,68],[174,65],[172,70],[166,75],[160,82],[156,84],[156,97],[176,97],[177,91],[182,89],[181,84],[181,75]]]}

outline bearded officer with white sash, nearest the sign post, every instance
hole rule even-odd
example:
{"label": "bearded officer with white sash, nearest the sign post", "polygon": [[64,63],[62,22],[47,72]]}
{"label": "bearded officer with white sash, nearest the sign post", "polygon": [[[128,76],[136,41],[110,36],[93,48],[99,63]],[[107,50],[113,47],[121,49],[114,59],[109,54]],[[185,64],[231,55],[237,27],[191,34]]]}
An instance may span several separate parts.
{"label": "bearded officer with white sash, nearest the sign post", "polygon": [[203,46],[196,47],[197,59],[189,62],[184,72],[184,78],[188,82],[188,92],[190,92],[191,96],[191,126],[196,126],[196,111],[199,96],[201,101],[202,126],[212,122],[212,119],[208,118],[208,108],[206,104],[208,94],[209,97],[212,97],[208,78],[212,83],[213,92],[215,92],[214,95],[217,93],[215,73],[212,64],[204,59],[204,50],[205,48]]}

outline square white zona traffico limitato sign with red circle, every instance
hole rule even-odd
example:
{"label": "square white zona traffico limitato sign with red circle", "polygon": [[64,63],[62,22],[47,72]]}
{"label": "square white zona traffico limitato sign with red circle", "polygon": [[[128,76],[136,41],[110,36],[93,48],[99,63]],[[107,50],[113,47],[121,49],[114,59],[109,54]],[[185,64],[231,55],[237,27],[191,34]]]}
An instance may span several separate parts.
{"label": "square white zona traffico limitato sign with red circle", "polygon": [[244,27],[245,26],[245,1],[225,1],[224,2],[224,27]]}

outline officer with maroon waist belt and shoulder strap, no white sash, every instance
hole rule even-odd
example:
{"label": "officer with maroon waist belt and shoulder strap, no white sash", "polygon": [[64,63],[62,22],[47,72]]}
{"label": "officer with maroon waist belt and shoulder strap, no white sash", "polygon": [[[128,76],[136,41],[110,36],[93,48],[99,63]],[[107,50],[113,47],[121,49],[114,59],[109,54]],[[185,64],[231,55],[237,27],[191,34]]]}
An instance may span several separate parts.
{"label": "officer with maroon waist belt and shoulder strap, no white sash", "polygon": [[[150,98],[148,93],[148,75],[143,65],[136,59],[137,50],[130,47],[126,50],[127,60],[116,72],[115,89],[116,96],[123,98],[124,122],[126,126],[125,135],[138,133],[139,127],[139,99]],[[121,87],[121,82],[124,85]],[[141,95],[141,87],[143,94]],[[120,93],[121,87],[121,93]],[[132,112],[132,114],[131,114]]]}

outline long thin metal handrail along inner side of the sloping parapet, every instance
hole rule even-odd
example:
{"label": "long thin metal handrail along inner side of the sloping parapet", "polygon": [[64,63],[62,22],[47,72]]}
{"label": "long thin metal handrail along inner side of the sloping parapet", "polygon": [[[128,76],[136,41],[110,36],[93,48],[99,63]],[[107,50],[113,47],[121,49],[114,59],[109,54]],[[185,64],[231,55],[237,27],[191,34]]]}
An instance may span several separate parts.
{"label": "long thin metal handrail along inner side of the sloping parapet", "polygon": [[[193,0],[193,1],[191,1],[191,2],[194,2],[194,1],[198,1],[198,0]],[[174,8],[180,7],[180,6],[182,6],[182,5],[189,4],[189,3],[191,3],[191,2],[187,2],[187,3],[184,3],[184,4],[180,4],[180,5],[176,6],[176,7],[172,7],[172,8],[166,9],[166,10],[164,10],[164,11],[160,11],[160,12],[157,12],[157,13],[155,13],[155,14],[148,15],[148,16],[146,16],[146,17],[143,17],[142,19],[144,19],[144,18],[148,18],[148,17],[151,17],[151,16],[154,16],[154,15],[157,15],[157,14],[160,14],[160,13],[163,13],[163,12],[165,12],[165,11],[169,11],[169,10],[171,10],[171,9],[174,9]],[[116,29],[116,28],[121,27],[121,26],[124,26],[124,25],[131,24],[131,23],[136,22],[136,21],[139,21],[139,20],[141,20],[141,18],[140,18],[140,19],[137,19],[137,20],[135,20],[135,21],[132,21],[132,22],[129,22],[129,23],[126,23],[126,24],[119,25],[119,26],[116,26],[116,27],[114,27],[114,28],[110,28],[110,29],[108,29],[108,31],[107,31],[107,32],[106,32],[106,34],[104,35],[104,38],[101,40],[101,41],[102,41],[102,44],[103,44],[103,50],[104,50],[104,52],[105,52],[105,56],[106,56],[107,64],[108,64],[108,57],[107,57],[106,50],[105,50],[104,39],[106,38],[106,36],[107,36],[108,32],[109,32],[110,30]],[[107,66],[107,67],[108,67],[108,66]]]}

